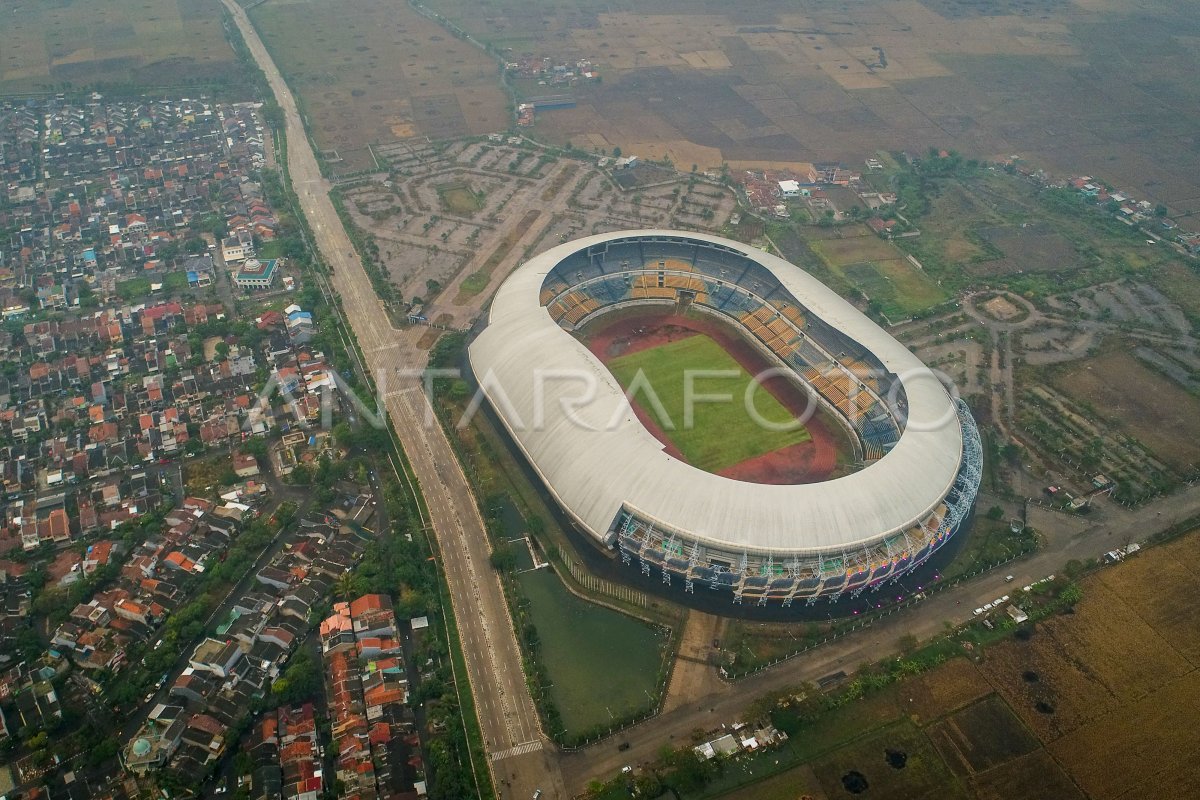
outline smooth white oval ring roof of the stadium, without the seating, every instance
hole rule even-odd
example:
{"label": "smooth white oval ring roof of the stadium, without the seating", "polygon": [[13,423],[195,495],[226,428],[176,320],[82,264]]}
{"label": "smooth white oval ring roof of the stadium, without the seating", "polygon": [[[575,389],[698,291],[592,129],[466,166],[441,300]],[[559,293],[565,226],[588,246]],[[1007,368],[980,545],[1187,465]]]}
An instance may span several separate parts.
{"label": "smooth white oval ring roof of the stadium, without the seating", "polygon": [[[908,416],[900,440],[865,469],[799,486],[734,481],[668,456],[634,415],[608,369],[539,302],[542,282],[559,261],[631,236],[713,242],[768,269],[810,314],[900,377]],[[949,493],[960,467],[962,434],[954,401],[916,356],[808,272],[716,236],[616,231],[541,253],[499,288],[487,327],[469,353],[488,401],[550,492],[600,539],[624,504],[664,530],[725,549],[798,555],[851,549],[925,519]],[[569,414],[564,403],[570,408],[584,384],[553,375],[580,369],[599,387]],[[538,371],[547,378],[539,380]]]}

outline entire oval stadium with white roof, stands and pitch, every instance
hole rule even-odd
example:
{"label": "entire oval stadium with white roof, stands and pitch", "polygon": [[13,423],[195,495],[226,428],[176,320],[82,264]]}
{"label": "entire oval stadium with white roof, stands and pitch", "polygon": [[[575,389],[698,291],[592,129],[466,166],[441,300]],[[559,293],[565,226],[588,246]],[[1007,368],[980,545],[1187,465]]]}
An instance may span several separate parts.
{"label": "entire oval stadium with white roof, stands and pitch", "polygon": [[[928,560],[979,488],[974,421],[931,371],[808,272],[716,236],[541,253],[500,285],[469,360],[574,524],[683,591],[857,596]],[[680,399],[678,373],[706,367],[731,397],[770,368],[746,389],[754,425],[710,391]]]}

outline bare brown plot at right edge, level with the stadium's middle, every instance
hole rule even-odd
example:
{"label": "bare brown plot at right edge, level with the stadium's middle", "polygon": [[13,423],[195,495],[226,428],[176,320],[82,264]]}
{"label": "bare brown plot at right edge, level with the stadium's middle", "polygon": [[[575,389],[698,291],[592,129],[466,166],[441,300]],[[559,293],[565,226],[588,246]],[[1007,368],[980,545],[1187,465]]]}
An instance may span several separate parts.
{"label": "bare brown plot at right edge, level with the stadium's middle", "polygon": [[1051,379],[1099,419],[1134,437],[1169,467],[1186,470],[1196,459],[1200,399],[1116,350],[1078,362]]}

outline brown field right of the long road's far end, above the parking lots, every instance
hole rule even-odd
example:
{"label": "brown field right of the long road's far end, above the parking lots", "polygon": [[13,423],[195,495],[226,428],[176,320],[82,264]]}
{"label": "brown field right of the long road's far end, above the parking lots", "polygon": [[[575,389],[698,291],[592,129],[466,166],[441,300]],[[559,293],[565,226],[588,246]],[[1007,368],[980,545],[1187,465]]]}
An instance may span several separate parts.
{"label": "brown field right of the long road's far end, above the parking lots", "polygon": [[335,173],[378,167],[373,145],[510,125],[496,62],[408,4],[268,0],[250,14]]}

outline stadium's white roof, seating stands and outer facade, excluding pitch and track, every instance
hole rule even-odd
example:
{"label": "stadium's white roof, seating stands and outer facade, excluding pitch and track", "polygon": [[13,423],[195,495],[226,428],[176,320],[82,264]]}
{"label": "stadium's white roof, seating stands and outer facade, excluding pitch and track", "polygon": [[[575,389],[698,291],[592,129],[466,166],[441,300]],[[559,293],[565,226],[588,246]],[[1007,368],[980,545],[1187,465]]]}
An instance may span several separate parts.
{"label": "stadium's white roof, seating stands and outer facade, excluding pitch and track", "polygon": [[[642,305],[738,329],[811,390],[845,428],[860,468],[775,486],[667,455],[571,335]],[[857,596],[929,559],[967,519],[979,488],[974,420],[931,371],[809,273],[716,236],[622,231],[536,255],[498,290],[469,357],[488,403],[575,524],[683,591],[785,606]]]}

